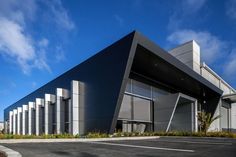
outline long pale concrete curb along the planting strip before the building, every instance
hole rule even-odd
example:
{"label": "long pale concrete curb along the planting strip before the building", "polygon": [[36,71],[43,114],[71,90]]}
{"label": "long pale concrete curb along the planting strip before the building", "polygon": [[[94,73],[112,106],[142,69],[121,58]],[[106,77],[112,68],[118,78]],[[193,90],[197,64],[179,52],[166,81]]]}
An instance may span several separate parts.
{"label": "long pale concrete curb along the planting strip before the building", "polygon": [[119,140],[147,140],[158,139],[159,136],[142,137],[112,137],[112,138],[72,138],[72,139],[9,139],[0,140],[0,143],[52,143],[52,142],[97,142],[97,141],[119,141]]}

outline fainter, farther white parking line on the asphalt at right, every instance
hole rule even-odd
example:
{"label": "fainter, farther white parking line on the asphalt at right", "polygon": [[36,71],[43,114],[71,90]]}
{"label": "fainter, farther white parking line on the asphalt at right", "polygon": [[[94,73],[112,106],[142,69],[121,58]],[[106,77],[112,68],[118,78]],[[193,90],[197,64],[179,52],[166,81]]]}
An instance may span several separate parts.
{"label": "fainter, farther white parking line on the asphalt at right", "polygon": [[206,144],[206,145],[232,145],[230,142],[206,142],[206,141],[170,141],[170,140],[157,140],[159,142],[170,142],[170,143],[189,143],[189,144]]}

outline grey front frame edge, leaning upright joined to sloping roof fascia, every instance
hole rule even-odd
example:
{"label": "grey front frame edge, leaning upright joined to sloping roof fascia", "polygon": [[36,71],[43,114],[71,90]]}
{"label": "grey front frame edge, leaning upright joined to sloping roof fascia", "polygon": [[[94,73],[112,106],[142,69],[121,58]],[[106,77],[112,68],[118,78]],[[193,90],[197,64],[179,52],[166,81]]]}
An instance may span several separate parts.
{"label": "grey front frame edge, leaning upright joined to sloping roof fascia", "polygon": [[129,57],[128,57],[127,64],[126,64],[126,69],[125,69],[124,77],[122,80],[118,100],[116,103],[116,109],[115,109],[115,113],[113,116],[112,125],[111,125],[110,131],[109,131],[110,133],[113,133],[114,129],[115,129],[115,125],[116,125],[116,122],[118,119],[119,109],[120,109],[120,106],[122,103],[123,94],[125,92],[126,84],[127,84],[128,78],[129,78],[129,73],[131,71],[131,66],[133,64],[136,48],[138,45],[143,46],[144,48],[153,52],[155,55],[157,55],[160,58],[162,58],[163,60],[167,61],[169,64],[171,64],[174,67],[176,67],[177,69],[179,69],[180,71],[183,71],[184,73],[186,73],[186,75],[189,75],[190,77],[192,77],[196,81],[204,84],[206,87],[210,88],[211,90],[218,93],[219,95],[222,95],[223,91],[221,89],[215,87],[213,84],[211,84],[204,77],[202,77],[201,75],[199,75],[198,73],[193,71],[191,68],[189,68],[187,65],[185,65],[184,63],[179,61],[177,58],[175,58],[174,56],[169,54],[166,50],[160,48],[157,44],[152,42],[150,39],[146,38],[145,36],[143,36],[142,34],[140,34],[137,31],[133,31],[130,34],[128,34],[127,36],[129,36],[129,35],[133,35],[133,37],[132,37],[133,41],[132,41],[132,44],[130,47]]}

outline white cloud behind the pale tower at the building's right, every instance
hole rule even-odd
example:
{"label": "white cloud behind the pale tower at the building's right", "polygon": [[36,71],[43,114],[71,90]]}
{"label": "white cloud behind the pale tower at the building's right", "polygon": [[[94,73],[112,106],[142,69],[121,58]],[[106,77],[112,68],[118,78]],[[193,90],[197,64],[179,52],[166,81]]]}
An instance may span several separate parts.
{"label": "white cloud behind the pale tower at the building's right", "polygon": [[172,44],[182,44],[195,40],[201,47],[201,59],[208,64],[214,63],[227,47],[227,43],[207,31],[178,30],[167,38]]}

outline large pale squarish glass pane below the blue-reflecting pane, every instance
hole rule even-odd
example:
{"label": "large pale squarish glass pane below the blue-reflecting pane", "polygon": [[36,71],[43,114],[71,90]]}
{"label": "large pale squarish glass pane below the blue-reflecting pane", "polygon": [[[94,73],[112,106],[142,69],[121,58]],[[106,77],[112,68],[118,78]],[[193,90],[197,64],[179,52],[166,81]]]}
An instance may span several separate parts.
{"label": "large pale squarish glass pane below the blue-reflecting pane", "polygon": [[134,120],[151,121],[151,102],[149,100],[133,97]]}

